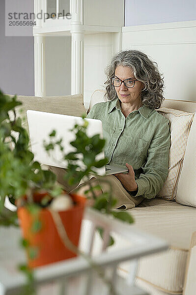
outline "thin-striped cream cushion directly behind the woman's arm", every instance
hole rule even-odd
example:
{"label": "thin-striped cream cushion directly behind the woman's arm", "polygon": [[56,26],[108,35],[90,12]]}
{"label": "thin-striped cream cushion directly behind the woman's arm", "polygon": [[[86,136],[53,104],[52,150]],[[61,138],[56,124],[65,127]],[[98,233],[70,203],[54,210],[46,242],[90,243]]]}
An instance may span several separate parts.
{"label": "thin-striped cream cushion directly behind the woman's arm", "polygon": [[158,193],[158,197],[173,200],[176,196],[178,180],[194,114],[164,107],[158,109],[158,112],[169,120],[171,132],[168,177]]}

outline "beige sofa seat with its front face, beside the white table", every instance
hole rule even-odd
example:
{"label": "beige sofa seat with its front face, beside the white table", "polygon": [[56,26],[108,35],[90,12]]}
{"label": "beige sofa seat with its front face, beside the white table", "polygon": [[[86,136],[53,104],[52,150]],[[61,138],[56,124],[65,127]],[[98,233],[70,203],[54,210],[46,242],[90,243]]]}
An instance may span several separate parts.
{"label": "beige sofa seat with its front face, beside the white table", "polygon": [[[139,207],[128,210],[134,226],[168,241],[167,251],[139,260],[137,276],[168,294],[182,294],[188,250],[196,231],[196,208],[185,207],[163,199],[143,200]],[[127,273],[129,266],[120,266]]]}

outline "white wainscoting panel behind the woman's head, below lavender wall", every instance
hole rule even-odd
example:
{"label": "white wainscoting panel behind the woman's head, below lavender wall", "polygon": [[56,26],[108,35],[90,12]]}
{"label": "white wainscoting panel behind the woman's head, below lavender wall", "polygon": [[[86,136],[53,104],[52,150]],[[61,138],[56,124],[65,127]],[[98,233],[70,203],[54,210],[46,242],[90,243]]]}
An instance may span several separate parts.
{"label": "white wainscoting panel behind the woman's head, below lavender wall", "polygon": [[196,21],[122,28],[122,50],[137,49],[158,63],[167,99],[196,101]]}

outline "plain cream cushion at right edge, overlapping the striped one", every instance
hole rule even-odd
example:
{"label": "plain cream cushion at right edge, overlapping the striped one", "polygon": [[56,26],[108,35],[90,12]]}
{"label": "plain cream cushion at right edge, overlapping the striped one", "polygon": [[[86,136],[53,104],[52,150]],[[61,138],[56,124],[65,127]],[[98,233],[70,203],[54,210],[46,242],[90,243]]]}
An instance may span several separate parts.
{"label": "plain cream cushion at right edge, overlapping the striped one", "polygon": [[187,142],[176,202],[196,207],[196,115]]}

